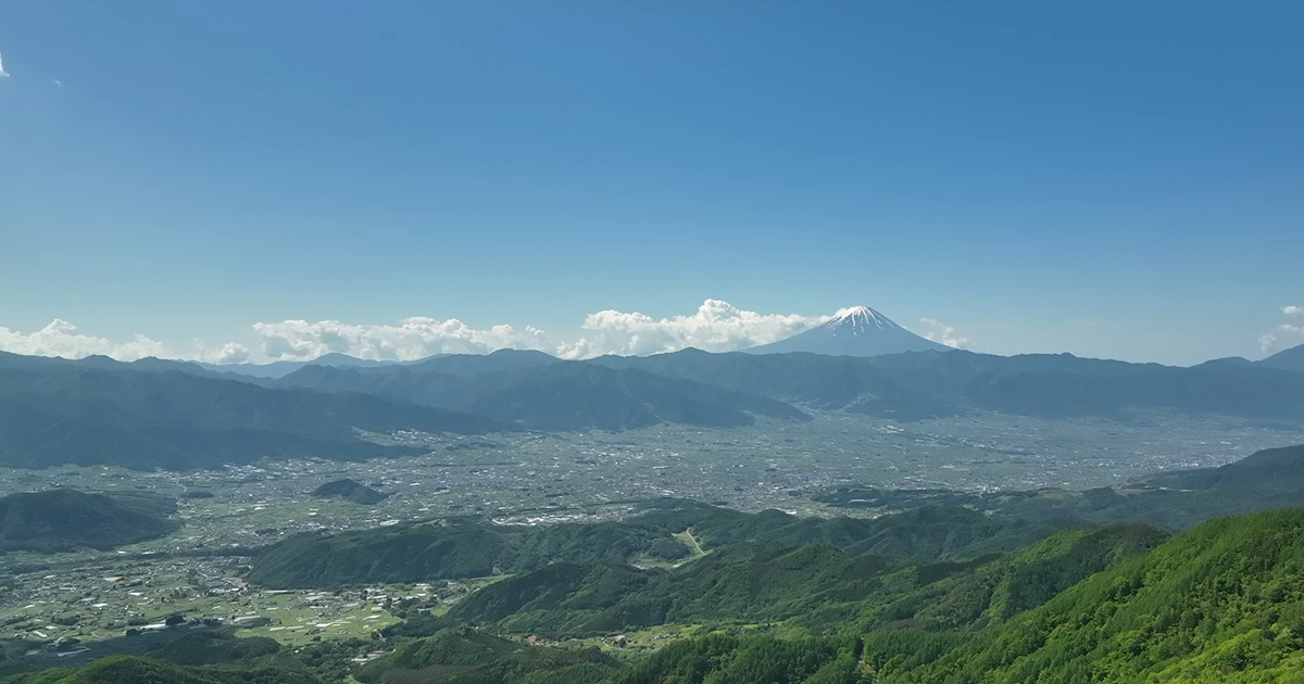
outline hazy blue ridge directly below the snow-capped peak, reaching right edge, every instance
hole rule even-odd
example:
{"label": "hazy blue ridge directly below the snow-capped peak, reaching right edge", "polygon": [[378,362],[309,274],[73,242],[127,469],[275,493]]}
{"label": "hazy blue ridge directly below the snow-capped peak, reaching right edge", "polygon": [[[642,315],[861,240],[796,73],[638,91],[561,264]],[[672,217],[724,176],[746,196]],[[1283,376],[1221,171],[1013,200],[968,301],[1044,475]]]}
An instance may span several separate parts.
{"label": "hazy blue ridge directly below the snow-capped peak, reaching right edge", "polygon": [[1072,354],[1001,357],[951,350],[855,358],[811,353],[708,354],[696,349],[589,362],[897,420],[973,410],[1127,420],[1144,409],[1274,420],[1304,417],[1304,374],[1254,363],[1176,367]]}

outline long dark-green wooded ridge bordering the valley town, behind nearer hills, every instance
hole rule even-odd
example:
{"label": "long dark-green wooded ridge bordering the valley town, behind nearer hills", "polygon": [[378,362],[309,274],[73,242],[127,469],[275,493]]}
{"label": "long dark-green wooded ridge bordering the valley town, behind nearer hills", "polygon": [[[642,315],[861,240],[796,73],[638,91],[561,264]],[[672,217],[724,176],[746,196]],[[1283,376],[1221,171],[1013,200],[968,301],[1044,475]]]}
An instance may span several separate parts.
{"label": "long dark-green wooded ridge bordering the valley town, behind nearer hills", "polygon": [[339,534],[305,534],[271,546],[249,580],[269,588],[331,588],[369,582],[482,577],[528,572],[554,562],[674,563],[690,549],[672,535],[691,530],[709,550],[768,543],[820,543],[850,555],[968,558],[1009,551],[1084,522],[1038,522],[932,507],[865,519],[742,513],[665,499],[621,522],[540,528],[471,520],[394,525]]}

